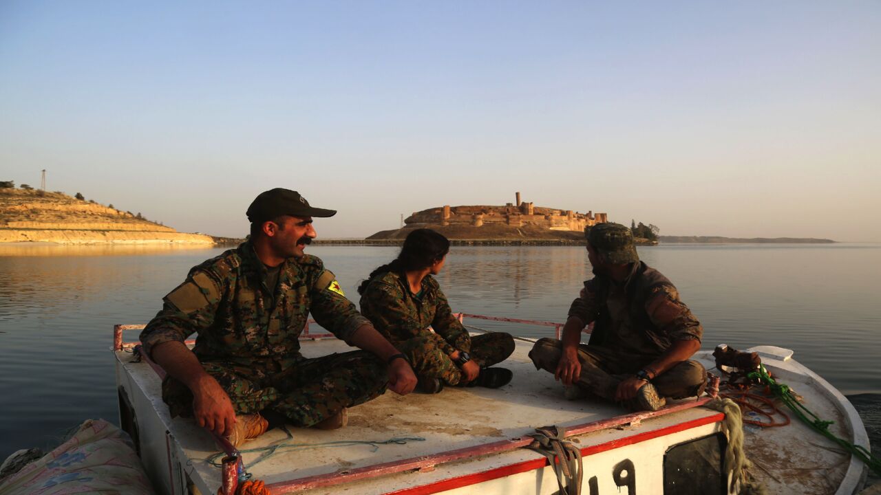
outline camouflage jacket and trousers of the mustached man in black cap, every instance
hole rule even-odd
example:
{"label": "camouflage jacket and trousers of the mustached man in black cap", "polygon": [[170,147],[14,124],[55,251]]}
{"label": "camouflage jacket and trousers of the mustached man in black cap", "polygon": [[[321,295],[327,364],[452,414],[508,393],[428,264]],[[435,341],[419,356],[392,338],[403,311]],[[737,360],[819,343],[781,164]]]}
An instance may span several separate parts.
{"label": "camouflage jacket and trousers of the mustached man in black cap", "polygon": [[[386,366],[369,352],[315,359],[300,354],[298,337],[310,312],[348,344],[369,323],[320,259],[288,259],[276,287],[266,280],[249,242],[194,267],[141,333],[144,351],[151,355],[154,345],[183,342],[196,332],[193,351],[226,390],[236,414],[271,409],[300,426],[385,391]],[[192,395],[180,381],[164,380],[162,396],[172,416],[191,414]]]}

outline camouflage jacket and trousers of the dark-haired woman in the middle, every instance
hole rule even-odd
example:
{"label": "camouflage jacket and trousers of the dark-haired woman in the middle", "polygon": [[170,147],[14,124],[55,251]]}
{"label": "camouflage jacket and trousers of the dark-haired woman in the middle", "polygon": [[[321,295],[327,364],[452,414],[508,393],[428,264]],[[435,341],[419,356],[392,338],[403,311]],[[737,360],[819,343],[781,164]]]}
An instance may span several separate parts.
{"label": "camouflage jacket and trousers of the dark-haired woman in the middle", "polygon": [[456,350],[468,352],[481,368],[500,363],[514,352],[514,338],[509,334],[469,336],[431,275],[422,279],[420,292],[417,298],[406,277],[389,271],[371,279],[360,300],[361,313],[407,356],[420,379],[459,383],[462,373],[449,358]]}

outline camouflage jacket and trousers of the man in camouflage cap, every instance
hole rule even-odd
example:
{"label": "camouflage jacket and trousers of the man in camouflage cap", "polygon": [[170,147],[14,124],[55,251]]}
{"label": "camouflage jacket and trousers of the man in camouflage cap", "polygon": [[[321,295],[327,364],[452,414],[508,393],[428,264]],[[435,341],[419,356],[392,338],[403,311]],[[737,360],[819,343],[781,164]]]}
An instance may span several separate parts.
{"label": "camouflage jacket and trousers of the man in camouflage cap", "polygon": [[[569,316],[594,323],[588,344],[579,346],[579,358],[611,375],[633,374],[661,356],[677,340],[700,341],[703,329],[679,292],[659,271],[645,262],[633,262],[623,284],[596,276],[584,283],[582,296],[572,302]],[[674,316],[666,325],[650,314]],[[562,344],[540,339],[529,357],[538,368],[554,373]],[[683,361],[652,380],[666,397],[697,395],[706,382],[706,370],[694,360]],[[610,397],[607,397],[610,398]]]}

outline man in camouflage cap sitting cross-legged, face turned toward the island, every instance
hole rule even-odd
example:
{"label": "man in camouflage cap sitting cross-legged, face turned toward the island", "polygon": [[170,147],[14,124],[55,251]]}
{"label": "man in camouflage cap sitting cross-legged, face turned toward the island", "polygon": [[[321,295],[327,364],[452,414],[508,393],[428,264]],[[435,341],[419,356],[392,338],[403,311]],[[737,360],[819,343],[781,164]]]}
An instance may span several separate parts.
{"label": "man in camouflage cap sitting cross-legged, face turned toward the island", "polygon": [[[690,360],[703,329],[667,277],[640,262],[633,233],[620,224],[585,229],[595,277],[569,308],[562,340],[542,338],[529,358],[569,390],[587,390],[633,410],[657,410],[665,397],[700,395],[706,370]],[[594,323],[588,344],[581,329]]]}

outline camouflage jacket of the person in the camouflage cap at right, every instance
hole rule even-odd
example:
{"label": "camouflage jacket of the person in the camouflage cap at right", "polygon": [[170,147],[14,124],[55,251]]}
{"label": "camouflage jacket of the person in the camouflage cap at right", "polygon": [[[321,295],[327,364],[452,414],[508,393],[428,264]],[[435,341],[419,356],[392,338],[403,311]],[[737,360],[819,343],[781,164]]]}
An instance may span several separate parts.
{"label": "camouflage jacket of the person in the camouflage cap at right", "polygon": [[700,341],[703,329],[661,272],[634,262],[624,284],[596,276],[584,283],[569,316],[594,323],[589,344],[656,357],[677,340]]}

